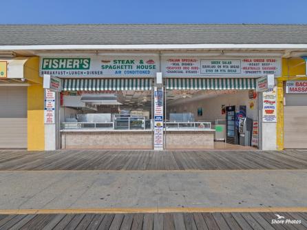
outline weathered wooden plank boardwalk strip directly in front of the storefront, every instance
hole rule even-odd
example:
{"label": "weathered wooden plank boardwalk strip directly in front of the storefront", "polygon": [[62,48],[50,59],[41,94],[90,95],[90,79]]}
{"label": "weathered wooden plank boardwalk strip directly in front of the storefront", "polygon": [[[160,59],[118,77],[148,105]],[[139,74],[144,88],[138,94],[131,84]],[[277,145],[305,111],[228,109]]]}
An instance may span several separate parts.
{"label": "weathered wooden plank boardwalk strip directly in front of the storefront", "polygon": [[307,169],[307,151],[10,151],[0,170]]}

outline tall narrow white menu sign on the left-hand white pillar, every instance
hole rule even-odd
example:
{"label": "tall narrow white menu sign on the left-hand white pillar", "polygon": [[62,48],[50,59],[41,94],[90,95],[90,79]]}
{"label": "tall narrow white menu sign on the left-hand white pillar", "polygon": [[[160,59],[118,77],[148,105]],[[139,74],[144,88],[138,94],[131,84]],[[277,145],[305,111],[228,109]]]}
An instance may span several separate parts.
{"label": "tall narrow white menu sign on the left-hand white pillar", "polygon": [[52,92],[51,90],[45,90],[45,108],[44,108],[45,124],[54,124],[55,101],[56,101],[55,92]]}

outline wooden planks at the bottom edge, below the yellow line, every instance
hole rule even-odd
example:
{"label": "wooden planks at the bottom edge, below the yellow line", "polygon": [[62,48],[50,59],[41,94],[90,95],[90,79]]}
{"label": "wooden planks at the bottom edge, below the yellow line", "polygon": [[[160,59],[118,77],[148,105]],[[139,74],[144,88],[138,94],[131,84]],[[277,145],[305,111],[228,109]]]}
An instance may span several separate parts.
{"label": "wooden planks at the bottom edge, below the yellow line", "polygon": [[301,224],[271,224],[275,213],[119,213],[2,215],[0,229],[307,229],[307,213],[282,213]]}

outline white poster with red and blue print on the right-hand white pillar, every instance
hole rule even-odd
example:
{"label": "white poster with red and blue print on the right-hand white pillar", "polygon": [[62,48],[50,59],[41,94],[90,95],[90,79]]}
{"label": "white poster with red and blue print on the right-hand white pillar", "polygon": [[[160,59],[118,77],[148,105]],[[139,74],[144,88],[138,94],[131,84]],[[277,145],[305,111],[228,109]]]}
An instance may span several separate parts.
{"label": "white poster with red and blue print on the right-hand white pillar", "polygon": [[263,92],[263,122],[276,122],[276,87],[268,92]]}

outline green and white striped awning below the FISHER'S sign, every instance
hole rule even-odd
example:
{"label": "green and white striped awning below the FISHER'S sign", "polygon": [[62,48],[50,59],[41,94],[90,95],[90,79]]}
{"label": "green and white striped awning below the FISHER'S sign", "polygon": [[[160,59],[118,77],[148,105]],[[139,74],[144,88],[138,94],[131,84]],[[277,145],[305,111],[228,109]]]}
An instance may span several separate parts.
{"label": "green and white striped awning below the FISHER'S sign", "polygon": [[63,91],[151,90],[151,79],[63,79]]}

